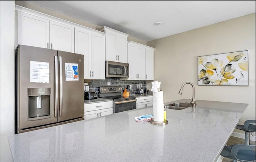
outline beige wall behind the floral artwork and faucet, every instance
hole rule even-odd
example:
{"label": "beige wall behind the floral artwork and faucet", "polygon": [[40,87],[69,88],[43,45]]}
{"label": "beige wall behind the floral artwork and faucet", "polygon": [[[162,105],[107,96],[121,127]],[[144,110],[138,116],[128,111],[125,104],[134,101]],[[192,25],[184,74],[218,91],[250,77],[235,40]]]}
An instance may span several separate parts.
{"label": "beige wall behind the floral artwork and faucet", "polygon": [[[161,82],[164,102],[192,99],[195,85],[198,100],[248,103],[240,124],[255,120],[255,13],[232,20],[147,42],[155,47],[154,80]],[[249,50],[249,86],[198,86],[198,56]],[[148,87],[152,87],[148,82]],[[241,132],[234,130],[235,132]]]}

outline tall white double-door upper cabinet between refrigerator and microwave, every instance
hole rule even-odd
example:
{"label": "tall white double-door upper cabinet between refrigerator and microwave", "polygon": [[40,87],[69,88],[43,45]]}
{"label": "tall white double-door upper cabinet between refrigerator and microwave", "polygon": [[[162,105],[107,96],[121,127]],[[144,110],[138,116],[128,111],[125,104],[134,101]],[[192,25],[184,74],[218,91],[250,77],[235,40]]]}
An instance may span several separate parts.
{"label": "tall white double-door upper cabinet between refrigerator and microwave", "polygon": [[75,28],[75,53],[84,55],[84,79],[105,79],[103,32]]}

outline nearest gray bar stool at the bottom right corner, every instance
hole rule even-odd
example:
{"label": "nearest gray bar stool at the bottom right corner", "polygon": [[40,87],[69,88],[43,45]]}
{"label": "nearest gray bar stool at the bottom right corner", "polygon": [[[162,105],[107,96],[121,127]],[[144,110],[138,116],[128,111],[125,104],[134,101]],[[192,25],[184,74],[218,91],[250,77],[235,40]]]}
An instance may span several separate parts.
{"label": "nearest gray bar stool at the bottom right corner", "polygon": [[254,162],[256,160],[255,149],[255,145],[235,144],[225,146],[220,155],[225,158],[233,159],[233,162],[237,162],[237,160]]}

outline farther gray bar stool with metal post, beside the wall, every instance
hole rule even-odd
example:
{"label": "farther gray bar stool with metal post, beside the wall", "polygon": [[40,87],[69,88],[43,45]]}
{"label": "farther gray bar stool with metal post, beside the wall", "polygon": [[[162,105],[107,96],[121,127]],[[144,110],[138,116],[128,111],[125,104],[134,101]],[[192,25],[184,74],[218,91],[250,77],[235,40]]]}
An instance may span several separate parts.
{"label": "farther gray bar stool with metal post, beside the wall", "polygon": [[248,120],[244,122],[244,125],[237,125],[236,128],[244,130],[244,144],[250,144],[250,133],[256,131],[256,126],[252,123],[256,123],[256,120]]}

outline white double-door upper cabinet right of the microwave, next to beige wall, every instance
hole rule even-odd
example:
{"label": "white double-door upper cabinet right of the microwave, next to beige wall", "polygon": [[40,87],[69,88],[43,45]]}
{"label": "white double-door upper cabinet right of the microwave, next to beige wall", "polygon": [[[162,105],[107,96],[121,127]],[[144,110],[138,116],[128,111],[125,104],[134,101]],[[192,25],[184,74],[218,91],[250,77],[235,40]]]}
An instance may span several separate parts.
{"label": "white double-door upper cabinet right of the microwave, next to beige wall", "polygon": [[154,48],[128,42],[128,80],[154,80]]}

